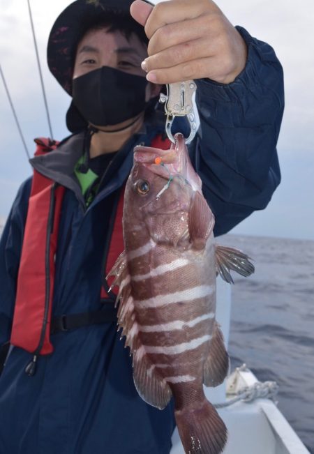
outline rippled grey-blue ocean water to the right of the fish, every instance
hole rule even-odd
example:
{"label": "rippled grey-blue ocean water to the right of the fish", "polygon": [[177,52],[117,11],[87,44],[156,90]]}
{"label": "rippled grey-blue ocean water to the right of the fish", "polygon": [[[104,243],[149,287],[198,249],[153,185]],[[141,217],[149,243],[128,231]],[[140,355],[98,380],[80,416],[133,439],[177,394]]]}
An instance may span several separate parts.
{"label": "rippled grey-blue ocean water to the right of the fish", "polygon": [[314,241],[225,235],[254,259],[234,275],[229,353],[279,386],[278,408],[314,454]]}

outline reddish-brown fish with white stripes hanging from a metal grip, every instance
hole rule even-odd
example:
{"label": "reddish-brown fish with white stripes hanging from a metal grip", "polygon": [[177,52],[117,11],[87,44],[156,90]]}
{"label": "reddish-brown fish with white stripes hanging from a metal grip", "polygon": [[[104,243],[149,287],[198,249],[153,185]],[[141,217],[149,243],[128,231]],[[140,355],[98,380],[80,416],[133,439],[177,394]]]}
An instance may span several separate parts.
{"label": "reddish-brown fish with white stripes hanging from a metal grip", "polygon": [[250,275],[243,252],[216,245],[214,214],[202,195],[184,136],[168,150],[137,146],[124,195],[124,252],[108,277],[119,287],[121,338],[133,356],[140,397],[174,416],[188,454],[218,454],[227,428],[204,395],[229,370],[216,322],[216,276]]}

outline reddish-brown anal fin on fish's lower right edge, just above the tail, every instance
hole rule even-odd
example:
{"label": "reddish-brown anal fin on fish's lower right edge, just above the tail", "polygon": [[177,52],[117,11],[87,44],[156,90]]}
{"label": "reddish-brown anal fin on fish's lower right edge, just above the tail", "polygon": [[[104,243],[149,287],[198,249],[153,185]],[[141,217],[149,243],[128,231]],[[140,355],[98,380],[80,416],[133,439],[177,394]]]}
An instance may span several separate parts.
{"label": "reddish-brown anal fin on fish's lower right edge, just above the tail", "polygon": [[215,322],[214,334],[209,345],[209,356],[204,363],[204,385],[218,386],[223,383],[229,371],[229,355],[223,342],[218,324]]}

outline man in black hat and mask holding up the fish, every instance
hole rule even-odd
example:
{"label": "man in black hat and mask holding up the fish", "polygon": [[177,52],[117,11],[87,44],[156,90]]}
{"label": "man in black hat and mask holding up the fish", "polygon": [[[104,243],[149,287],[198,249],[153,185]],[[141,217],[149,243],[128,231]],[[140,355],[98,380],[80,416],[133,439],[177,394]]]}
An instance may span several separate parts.
{"label": "man in black hat and mask holding up the fish", "polygon": [[216,235],[264,209],[280,181],[283,75],[271,47],[234,29],[212,1],[151,10],[137,0],[140,24],[131,3],[77,0],[50,33],[48,64],[73,96],[73,135],[57,149],[37,140],[33,181],[21,186],[1,237],[0,345],[11,344],[0,377],[1,453],[170,452],[172,406],[159,411],[137,395],[105,280],[123,248],[133,148],[167,146],[155,111],[161,85],[197,83],[190,155]]}

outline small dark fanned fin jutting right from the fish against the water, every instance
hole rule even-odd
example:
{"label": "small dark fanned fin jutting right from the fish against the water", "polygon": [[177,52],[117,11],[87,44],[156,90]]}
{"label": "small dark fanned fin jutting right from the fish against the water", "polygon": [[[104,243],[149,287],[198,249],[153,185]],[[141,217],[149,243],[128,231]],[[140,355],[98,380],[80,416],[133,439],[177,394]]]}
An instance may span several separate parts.
{"label": "small dark fanned fin jutting right from the fish against the water", "polygon": [[230,284],[234,284],[230,270],[237,271],[245,278],[254,273],[255,268],[248,255],[241,250],[216,245],[216,273]]}

